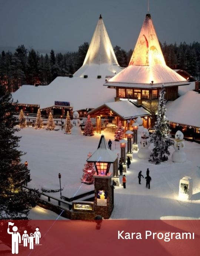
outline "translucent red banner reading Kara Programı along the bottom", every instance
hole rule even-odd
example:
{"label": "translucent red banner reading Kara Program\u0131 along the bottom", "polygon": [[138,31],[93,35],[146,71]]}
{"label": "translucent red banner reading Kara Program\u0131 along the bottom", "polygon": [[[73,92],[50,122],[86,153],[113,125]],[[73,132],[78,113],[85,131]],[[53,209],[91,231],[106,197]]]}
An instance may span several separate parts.
{"label": "translucent red banner reading Kara Program\u0131 along the bottom", "polygon": [[199,256],[199,251],[198,220],[0,221],[4,256]]}

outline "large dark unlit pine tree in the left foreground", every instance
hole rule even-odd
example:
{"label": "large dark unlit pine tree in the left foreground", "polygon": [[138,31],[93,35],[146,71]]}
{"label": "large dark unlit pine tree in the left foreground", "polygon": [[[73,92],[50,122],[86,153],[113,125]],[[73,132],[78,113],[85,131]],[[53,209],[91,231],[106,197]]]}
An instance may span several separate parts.
{"label": "large dark unlit pine tree in the left foreground", "polygon": [[27,219],[38,199],[36,190],[26,190],[30,170],[21,163],[23,152],[17,150],[20,137],[15,133],[15,106],[11,95],[0,86],[0,219]]}

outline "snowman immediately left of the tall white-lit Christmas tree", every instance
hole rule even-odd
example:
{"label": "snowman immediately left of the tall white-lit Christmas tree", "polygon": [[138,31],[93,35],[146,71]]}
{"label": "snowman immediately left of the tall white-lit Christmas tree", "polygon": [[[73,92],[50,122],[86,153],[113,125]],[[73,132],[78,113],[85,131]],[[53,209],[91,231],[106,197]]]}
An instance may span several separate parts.
{"label": "snowman immediately left of the tall white-lit Christmas tree", "polygon": [[137,153],[137,156],[140,159],[149,159],[151,151],[149,149],[150,140],[149,140],[149,131],[147,128],[144,128],[141,133],[141,140],[140,140],[140,149]]}

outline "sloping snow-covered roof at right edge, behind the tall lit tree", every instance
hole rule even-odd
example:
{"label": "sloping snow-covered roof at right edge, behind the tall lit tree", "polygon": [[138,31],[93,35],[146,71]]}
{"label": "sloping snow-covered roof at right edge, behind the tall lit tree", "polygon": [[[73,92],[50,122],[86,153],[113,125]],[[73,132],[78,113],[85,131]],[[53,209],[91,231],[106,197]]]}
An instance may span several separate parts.
{"label": "sloping snow-covered roof at right edge, behind the tall lit tree", "polygon": [[166,115],[170,122],[200,127],[200,94],[189,91],[175,101],[167,102]]}

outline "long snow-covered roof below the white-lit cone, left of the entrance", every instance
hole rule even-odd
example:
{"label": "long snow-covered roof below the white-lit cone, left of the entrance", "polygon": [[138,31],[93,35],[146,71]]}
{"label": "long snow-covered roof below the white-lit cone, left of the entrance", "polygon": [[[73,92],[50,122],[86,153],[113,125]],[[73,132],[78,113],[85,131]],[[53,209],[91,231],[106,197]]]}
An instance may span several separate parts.
{"label": "long snow-covered roof below the white-lit cone, left of the entrance", "polygon": [[68,101],[75,111],[113,101],[116,91],[103,83],[103,78],[57,77],[47,86],[23,85],[12,96],[19,104],[37,104],[40,109],[54,106],[55,101]]}

